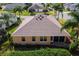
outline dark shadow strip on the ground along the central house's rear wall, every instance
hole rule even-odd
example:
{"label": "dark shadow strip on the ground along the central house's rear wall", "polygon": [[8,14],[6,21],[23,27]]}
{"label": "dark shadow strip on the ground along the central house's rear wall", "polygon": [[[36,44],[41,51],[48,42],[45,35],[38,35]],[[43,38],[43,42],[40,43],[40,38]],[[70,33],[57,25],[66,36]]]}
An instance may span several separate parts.
{"label": "dark shadow strip on the ground along the central house's rear wall", "polygon": [[[33,50],[40,50],[40,49],[46,49],[46,48],[60,48],[60,47],[56,47],[56,46],[49,46],[49,45],[13,45],[14,46],[14,50],[16,51],[33,51]],[[62,49],[67,49],[67,48],[63,48]]]}

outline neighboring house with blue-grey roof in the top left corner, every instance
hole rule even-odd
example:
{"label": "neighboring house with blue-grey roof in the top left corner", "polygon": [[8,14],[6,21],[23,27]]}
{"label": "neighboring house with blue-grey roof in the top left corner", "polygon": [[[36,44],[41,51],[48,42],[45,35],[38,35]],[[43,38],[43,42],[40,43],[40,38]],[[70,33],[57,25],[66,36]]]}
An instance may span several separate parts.
{"label": "neighboring house with blue-grey roof in the top left corner", "polygon": [[11,3],[11,4],[7,4],[7,5],[2,6],[2,9],[3,10],[13,10],[17,6],[24,7],[25,4],[24,3]]}

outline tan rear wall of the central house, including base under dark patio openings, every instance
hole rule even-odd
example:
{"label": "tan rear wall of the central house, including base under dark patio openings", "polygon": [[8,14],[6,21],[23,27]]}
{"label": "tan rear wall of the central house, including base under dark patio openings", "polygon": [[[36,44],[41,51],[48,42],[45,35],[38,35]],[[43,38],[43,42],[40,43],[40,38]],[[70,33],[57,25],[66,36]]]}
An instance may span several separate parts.
{"label": "tan rear wall of the central house, including base under dark patio openings", "polygon": [[[53,38],[54,39],[54,38]],[[51,42],[53,42],[53,44],[51,44]],[[13,37],[13,43],[14,44],[29,44],[29,45],[54,45],[54,46],[58,46],[58,47],[68,47],[69,44],[66,43],[66,37],[64,39],[64,42],[54,42],[54,40],[51,41],[51,37],[47,36],[47,41],[40,41],[40,37],[36,36],[35,37],[35,41],[32,41],[32,36],[27,36],[25,37],[25,41],[22,41],[22,37]]]}

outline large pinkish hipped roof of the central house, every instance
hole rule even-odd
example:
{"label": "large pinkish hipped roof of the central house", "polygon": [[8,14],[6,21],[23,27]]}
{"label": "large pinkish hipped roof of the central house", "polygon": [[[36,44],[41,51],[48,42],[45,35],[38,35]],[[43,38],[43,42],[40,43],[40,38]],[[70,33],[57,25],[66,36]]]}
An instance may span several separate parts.
{"label": "large pinkish hipped roof of the central house", "polygon": [[66,30],[61,32],[61,27],[53,16],[27,16],[12,36],[70,36]]}

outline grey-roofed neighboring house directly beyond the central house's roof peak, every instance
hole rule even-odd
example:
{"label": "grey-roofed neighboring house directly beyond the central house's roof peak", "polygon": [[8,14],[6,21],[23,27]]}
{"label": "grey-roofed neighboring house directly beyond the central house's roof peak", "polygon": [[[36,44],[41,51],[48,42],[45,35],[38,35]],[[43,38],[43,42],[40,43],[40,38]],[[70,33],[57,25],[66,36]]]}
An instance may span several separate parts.
{"label": "grey-roofed neighboring house directly beyond the central house's roof peak", "polygon": [[43,12],[43,5],[41,3],[34,3],[31,7],[28,8],[29,11],[33,12]]}

